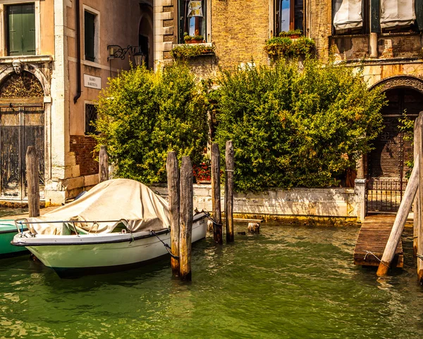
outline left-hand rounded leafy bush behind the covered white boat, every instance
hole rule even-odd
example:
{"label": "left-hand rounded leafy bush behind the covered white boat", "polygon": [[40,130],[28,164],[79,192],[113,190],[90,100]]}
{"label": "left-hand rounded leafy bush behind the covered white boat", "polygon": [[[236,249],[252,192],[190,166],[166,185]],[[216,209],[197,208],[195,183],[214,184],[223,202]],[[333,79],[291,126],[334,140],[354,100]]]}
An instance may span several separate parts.
{"label": "left-hand rounded leafy bush behind the covered white boat", "polygon": [[185,65],[154,73],[144,66],[109,79],[99,96],[101,134],[118,177],[146,184],[166,181],[168,151],[200,163],[207,143],[204,95]]}

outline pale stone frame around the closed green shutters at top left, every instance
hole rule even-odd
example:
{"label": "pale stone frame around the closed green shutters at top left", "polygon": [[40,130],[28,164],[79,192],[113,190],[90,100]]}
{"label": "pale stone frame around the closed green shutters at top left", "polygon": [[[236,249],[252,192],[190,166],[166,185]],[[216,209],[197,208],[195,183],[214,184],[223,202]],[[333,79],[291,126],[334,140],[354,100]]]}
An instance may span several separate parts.
{"label": "pale stone frame around the closed green shutters at top left", "polygon": [[[41,41],[41,19],[39,12],[39,1],[40,0],[0,0],[0,55],[7,56],[7,32],[6,32],[6,17],[4,15],[5,7],[8,5],[21,5],[21,4],[34,4],[35,5],[35,55],[39,56],[40,53],[40,41]],[[19,56],[16,56],[17,58]]]}

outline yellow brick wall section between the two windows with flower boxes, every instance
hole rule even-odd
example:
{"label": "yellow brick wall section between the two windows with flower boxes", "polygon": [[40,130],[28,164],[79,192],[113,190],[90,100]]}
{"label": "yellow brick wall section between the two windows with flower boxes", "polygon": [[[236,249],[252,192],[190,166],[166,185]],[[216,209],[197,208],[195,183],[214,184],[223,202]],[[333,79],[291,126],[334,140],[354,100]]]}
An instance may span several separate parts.
{"label": "yellow brick wall section between the two windows with flower boxes", "polygon": [[212,41],[219,66],[267,63],[263,51],[269,39],[269,0],[212,1]]}

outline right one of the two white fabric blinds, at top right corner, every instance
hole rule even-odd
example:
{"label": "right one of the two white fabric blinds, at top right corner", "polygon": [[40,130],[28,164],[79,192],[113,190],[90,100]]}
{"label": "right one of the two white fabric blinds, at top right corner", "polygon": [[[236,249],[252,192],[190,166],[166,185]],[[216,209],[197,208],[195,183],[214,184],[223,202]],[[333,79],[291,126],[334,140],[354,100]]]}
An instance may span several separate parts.
{"label": "right one of the two white fabric blinds, at top right corner", "polygon": [[381,0],[382,28],[412,25],[415,20],[415,0]]}

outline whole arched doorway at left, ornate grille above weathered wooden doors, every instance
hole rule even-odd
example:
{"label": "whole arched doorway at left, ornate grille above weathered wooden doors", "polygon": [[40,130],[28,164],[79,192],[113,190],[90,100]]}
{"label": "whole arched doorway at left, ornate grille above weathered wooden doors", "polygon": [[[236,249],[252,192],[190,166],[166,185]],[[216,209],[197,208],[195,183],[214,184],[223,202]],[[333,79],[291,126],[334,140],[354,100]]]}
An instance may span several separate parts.
{"label": "whole arched doorway at left, ornate grille above weathered wooden doors", "polygon": [[30,72],[13,72],[0,84],[0,198],[27,197],[25,153],[35,146],[44,195],[44,90]]}

